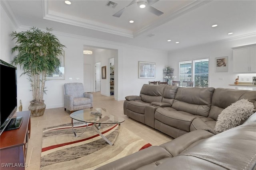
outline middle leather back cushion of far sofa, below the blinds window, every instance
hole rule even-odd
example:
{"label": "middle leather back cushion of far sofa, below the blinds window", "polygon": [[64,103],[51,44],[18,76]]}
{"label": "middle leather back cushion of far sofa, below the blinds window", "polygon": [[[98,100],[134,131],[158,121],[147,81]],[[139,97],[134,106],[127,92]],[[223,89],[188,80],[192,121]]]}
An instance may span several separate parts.
{"label": "middle leather back cushion of far sofa, below the blinds window", "polygon": [[193,115],[208,117],[214,88],[178,88],[172,107]]}

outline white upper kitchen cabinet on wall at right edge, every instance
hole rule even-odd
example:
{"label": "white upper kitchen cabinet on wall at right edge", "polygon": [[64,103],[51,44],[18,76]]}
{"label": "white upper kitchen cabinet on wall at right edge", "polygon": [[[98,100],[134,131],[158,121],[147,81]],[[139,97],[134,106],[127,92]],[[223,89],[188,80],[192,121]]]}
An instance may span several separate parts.
{"label": "white upper kitchen cabinet on wall at right edge", "polygon": [[232,49],[234,73],[256,72],[256,44],[234,47]]}

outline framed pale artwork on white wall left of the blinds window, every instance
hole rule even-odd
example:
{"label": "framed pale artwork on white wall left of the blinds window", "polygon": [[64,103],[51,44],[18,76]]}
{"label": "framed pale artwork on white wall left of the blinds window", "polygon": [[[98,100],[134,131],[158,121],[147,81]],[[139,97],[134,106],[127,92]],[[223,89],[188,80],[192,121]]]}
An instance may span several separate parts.
{"label": "framed pale artwork on white wall left of the blinds window", "polygon": [[139,78],[155,78],[156,63],[139,61]]}

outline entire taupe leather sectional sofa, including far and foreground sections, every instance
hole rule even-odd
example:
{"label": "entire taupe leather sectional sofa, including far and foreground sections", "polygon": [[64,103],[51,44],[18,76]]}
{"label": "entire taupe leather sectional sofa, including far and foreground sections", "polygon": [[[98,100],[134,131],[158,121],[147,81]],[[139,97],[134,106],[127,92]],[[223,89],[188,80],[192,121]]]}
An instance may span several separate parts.
{"label": "entire taupe leather sectional sofa, including far and foreground sections", "polygon": [[96,170],[256,170],[256,113],[214,131],[220,112],[242,98],[256,107],[256,91],[145,84],[140,96],[126,97],[124,114],[176,139]]}

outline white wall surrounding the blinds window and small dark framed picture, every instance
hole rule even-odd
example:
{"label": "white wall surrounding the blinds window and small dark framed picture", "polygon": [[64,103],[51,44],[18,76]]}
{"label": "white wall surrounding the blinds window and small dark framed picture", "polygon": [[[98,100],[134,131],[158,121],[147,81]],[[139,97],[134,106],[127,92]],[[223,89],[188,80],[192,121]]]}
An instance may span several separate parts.
{"label": "white wall surrounding the blinds window and small dark framed picture", "polygon": [[[179,62],[195,59],[209,59],[209,87],[214,88],[234,88],[228,84],[234,84],[237,76],[256,76],[256,74],[236,74],[233,73],[233,51],[232,47],[256,43],[256,37],[246,37],[231,39],[228,41],[218,41],[205,45],[198,45],[186,49],[172,51],[168,53],[168,63],[174,68],[174,76],[179,74]],[[228,72],[215,72],[215,58],[228,56]],[[223,80],[220,80],[222,79]],[[251,81],[252,82],[252,81]]]}

